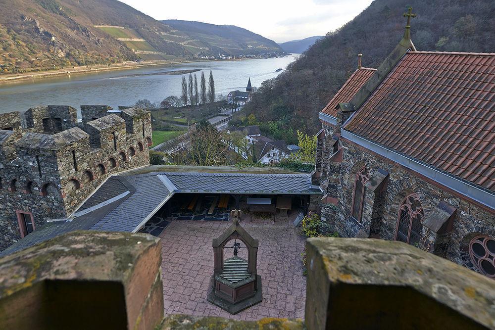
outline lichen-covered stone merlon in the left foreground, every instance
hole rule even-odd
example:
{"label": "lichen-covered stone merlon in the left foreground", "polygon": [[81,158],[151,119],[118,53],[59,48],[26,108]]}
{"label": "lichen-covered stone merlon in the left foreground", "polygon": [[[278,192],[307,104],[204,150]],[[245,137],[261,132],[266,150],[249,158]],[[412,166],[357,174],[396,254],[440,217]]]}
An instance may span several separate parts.
{"label": "lichen-covered stone merlon in the left foreground", "polygon": [[77,231],[0,259],[0,329],[154,329],[160,241]]}

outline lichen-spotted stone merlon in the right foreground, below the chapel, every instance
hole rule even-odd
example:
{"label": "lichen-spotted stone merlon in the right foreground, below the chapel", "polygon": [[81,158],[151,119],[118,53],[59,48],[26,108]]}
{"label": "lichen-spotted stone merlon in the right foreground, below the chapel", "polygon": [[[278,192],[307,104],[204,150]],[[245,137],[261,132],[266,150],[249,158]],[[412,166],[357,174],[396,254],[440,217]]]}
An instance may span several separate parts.
{"label": "lichen-spotted stone merlon in the right foreground, below the chapel", "polygon": [[309,238],[307,329],[495,328],[494,282],[402,242]]}

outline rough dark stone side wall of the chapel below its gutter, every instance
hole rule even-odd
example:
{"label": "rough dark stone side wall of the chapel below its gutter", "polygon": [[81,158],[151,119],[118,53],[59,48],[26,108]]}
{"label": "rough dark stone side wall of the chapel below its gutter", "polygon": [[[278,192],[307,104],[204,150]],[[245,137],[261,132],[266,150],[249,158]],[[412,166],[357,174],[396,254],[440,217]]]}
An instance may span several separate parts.
{"label": "rough dark stone side wall of the chapel below its gutter", "polygon": [[[339,139],[339,153],[334,154],[331,143],[326,142],[330,141],[328,137],[334,134],[335,128],[324,125],[324,130],[320,187],[326,197],[322,199],[321,215],[333,230],[343,237],[393,240],[400,203],[408,194],[416,193],[424,212],[422,238],[418,247],[476,270],[467,250],[469,240],[475,234],[495,237],[493,210],[454,194],[345,139]],[[370,180],[365,185],[362,218],[358,221],[351,216],[351,206],[356,173],[363,166],[366,166]],[[438,228],[435,232],[427,226],[440,221],[437,211],[445,207],[454,210],[449,219],[444,219],[448,228]]]}

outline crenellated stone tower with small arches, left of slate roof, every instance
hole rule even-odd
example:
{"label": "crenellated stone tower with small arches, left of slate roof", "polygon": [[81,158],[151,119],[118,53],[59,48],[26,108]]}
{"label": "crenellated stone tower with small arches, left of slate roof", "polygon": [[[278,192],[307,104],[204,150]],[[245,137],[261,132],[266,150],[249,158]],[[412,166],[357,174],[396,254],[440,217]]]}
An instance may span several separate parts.
{"label": "crenellated stone tower with small arches, left of slate roof", "polygon": [[[0,249],[49,219],[67,217],[106,178],[149,165],[151,114],[107,105],[30,108],[0,114]],[[22,124],[24,122],[24,124]],[[29,226],[28,226],[29,227]]]}

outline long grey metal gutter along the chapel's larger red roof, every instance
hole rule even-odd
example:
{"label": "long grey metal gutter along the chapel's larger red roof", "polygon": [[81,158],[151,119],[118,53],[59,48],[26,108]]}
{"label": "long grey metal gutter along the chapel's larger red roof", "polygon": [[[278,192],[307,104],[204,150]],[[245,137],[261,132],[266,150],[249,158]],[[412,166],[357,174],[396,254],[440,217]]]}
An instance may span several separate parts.
{"label": "long grey metal gutter along the chapel's larger red roof", "polygon": [[484,206],[487,206],[489,209],[494,209],[495,196],[493,193],[474,187],[473,185],[452,177],[451,175],[439,171],[436,168],[425,165],[415,159],[403,156],[396,151],[390,150],[377,143],[361,138],[353,133],[350,133],[349,131],[342,130],[341,136],[348,141],[352,141],[368,150],[371,150],[387,159],[396,162],[397,164],[400,164],[408,169],[413,170],[416,173],[419,173],[435,182],[438,182],[439,184],[452,189],[461,195],[465,195],[472,200]]}

